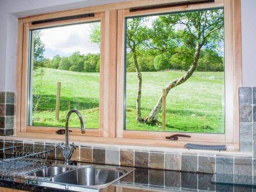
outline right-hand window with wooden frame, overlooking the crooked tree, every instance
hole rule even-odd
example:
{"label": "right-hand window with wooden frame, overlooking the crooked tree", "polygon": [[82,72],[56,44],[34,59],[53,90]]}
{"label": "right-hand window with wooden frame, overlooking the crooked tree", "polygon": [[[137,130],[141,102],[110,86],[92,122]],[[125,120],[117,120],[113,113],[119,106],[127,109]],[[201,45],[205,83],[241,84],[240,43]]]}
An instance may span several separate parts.
{"label": "right-hand window with wooden frame, overlooking the crooked tree", "polygon": [[[191,137],[179,138],[181,145],[189,141],[239,147],[241,58],[235,59],[233,52],[241,51],[241,39],[233,38],[240,31],[233,19],[240,14],[238,4],[215,1],[118,11],[123,28],[118,31],[117,111],[123,113],[117,114],[117,137],[167,144],[165,137],[185,132]],[[197,16],[201,20],[193,25],[190,19],[195,22]],[[191,69],[197,27],[203,36],[212,30],[214,38],[199,40],[198,64]]]}

